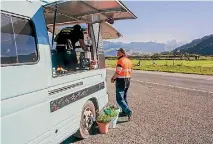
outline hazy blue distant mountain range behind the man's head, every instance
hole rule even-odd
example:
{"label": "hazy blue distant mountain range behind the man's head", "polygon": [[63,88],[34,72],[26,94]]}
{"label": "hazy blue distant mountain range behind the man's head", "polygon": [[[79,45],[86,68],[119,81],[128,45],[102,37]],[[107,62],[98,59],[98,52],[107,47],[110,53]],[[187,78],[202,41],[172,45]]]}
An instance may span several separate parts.
{"label": "hazy blue distant mountain range behind the man's head", "polygon": [[117,48],[124,48],[129,54],[134,53],[160,53],[166,50],[173,50],[174,48],[183,45],[184,42],[177,42],[176,40],[167,41],[167,43],[157,42],[109,42],[104,41],[104,52],[106,56],[115,56]]}

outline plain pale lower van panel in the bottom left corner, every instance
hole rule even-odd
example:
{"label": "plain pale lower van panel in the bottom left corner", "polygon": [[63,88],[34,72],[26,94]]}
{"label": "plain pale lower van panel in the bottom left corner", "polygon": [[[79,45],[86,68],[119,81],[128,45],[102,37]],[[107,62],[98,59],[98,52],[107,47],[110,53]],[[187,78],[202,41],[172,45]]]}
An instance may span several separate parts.
{"label": "plain pale lower van panel in the bottom left corner", "polygon": [[37,143],[50,141],[48,113],[48,102],[44,102],[2,117],[2,144],[23,144],[35,139]]}

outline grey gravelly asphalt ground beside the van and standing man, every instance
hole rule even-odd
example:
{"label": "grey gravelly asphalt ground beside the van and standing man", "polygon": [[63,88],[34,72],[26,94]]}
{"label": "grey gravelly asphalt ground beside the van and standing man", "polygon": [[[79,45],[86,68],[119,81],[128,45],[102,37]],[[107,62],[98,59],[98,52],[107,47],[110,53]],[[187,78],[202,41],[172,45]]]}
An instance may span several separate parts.
{"label": "grey gravelly asphalt ground beside the van and standing man", "polygon": [[[110,103],[115,87],[110,83]],[[133,119],[119,118],[108,134],[97,132],[76,144],[213,144],[213,77],[134,71],[128,92]]]}

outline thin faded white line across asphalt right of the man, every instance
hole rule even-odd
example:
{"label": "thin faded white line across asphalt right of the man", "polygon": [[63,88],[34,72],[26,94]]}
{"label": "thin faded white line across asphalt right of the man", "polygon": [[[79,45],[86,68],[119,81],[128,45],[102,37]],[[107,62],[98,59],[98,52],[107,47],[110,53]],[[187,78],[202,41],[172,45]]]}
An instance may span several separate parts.
{"label": "thin faded white line across asphalt right of the man", "polygon": [[[108,76],[108,78],[111,78],[111,77]],[[205,91],[205,90],[199,90],[199,89],[194,89],[194,88],[186,88],[186,87],[180,87],[180,86],[174,86],[174,85],[166,85],[166,84],[161,84],[161,83],[142,81],[142,80],[135,80],[135,79],[132,79],[131,81],[213,94],[213,91]]]}

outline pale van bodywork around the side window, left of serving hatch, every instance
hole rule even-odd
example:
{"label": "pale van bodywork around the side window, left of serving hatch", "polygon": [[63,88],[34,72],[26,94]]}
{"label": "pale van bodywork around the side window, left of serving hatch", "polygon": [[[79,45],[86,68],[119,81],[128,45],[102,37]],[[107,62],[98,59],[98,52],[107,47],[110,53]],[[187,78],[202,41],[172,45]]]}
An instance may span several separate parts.
{"label": "pale van bodywork around the side window, left of serving hatch", "polygon": [[2,144],[51,143],[48,87],[52,75],[43,9],[32,2],[5,1],[2,10],[33,20],[39,55],[34,64],[1,67]]}

